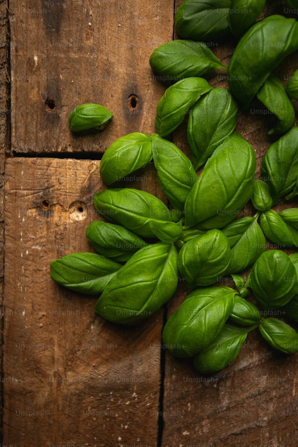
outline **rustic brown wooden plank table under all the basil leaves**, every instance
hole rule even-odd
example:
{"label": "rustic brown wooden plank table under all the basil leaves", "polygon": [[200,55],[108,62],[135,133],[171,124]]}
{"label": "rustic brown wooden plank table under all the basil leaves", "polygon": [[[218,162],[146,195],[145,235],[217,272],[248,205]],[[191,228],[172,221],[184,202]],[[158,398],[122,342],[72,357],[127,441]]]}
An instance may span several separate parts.
{"label": "rustic brown wooden plank table under all the basil leaves", "polygon": [[[180,3],[10,0],[8,11],[8,1],[0,2],[0,444],[298,445],[297,354],[273,351],[255,331],[230,366],[203,376],[161,346],[164,322],[186,296],[182,282],[155,316],[124,327],[94,315],[96,298],[50,279],[51,260],[90,251],[84,233],[99,217],[92,198],[105,188],[102,153],[122,135],[155,131],[165,85],[148,60],[155,47],[177,38],[173,12]],[[273,1],[264,15],[287,10]],[[211,49],[227,64],[236,43],[226,38]],[[297,65],[296,53],[276,73],[286,81]],[[227,86],[221,70],[206,79]],[[115,118],[104,132],[77,137],[67,118],[85,102],[106,106]],[[256,110],[264,112],[253,101],[239,112],[236,130],[254,147],[260,176],[262,156],[276,138],[267,135],[274,117]],[[189,154],[185,123],[172,141]],[[120,185],[166,202],[152,164]],[[289,204],[276,209],[283,207]],[[251,212],[248,204],[244,215]]]}

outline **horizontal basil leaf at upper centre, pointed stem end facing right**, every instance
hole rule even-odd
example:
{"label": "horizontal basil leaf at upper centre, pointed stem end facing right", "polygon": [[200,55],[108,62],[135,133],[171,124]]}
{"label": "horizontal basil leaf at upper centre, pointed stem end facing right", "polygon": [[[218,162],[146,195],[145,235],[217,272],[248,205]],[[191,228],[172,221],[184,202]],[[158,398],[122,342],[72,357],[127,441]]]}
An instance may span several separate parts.
{"label": "horizontal basil leaf at upper centre, pointed stem end facing right", "polygon": [[202,76],[226,65],[214,56],[203,42],[173,40],[156,48],[150,56],[152,70],[162,73],[163,80],[180,80]]}

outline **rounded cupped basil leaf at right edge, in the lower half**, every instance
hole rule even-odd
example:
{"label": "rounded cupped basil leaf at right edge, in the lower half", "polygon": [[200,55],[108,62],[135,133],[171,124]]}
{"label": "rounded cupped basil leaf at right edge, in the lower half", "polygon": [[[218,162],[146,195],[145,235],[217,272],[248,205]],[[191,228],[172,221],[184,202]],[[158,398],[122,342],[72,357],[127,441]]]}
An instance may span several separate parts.
{"label": "rounded cupped basil leaf at right edge, in the lower half", "polygon": [[297,274],[288,255],[281,250],[261,254],[249,275],[249,287],[264,310],[287,304],[297,289]]}

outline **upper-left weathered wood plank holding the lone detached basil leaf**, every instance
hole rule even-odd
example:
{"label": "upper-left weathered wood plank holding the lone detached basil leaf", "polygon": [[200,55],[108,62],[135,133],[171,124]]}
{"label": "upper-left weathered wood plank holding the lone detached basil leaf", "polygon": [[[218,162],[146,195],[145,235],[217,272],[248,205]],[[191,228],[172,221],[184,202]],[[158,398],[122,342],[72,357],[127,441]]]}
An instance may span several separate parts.
{"label": "upper-left weathered wood plank holding the lone detached basil leaf", "polygon": [[[173,5],[11,0],[13,150],[104,152],[122,135],[154,132],[153,109],[164,86],[152,78],[149,56],[172,39]],[[77,137],[68,115],[87,102],[115,117],[104,132]]]}

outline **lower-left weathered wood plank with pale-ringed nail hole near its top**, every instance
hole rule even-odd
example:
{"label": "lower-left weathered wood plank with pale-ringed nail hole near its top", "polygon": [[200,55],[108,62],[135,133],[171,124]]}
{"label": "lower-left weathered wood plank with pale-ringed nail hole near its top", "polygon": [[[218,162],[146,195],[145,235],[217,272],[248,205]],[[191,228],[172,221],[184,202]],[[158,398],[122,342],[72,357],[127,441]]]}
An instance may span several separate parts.
{"label": "lower-left weathered wood plank with pale-ringed nail hole near its top", "polygon": [[[156,446],[163,311],[114,325],[95,316],[96,298],[50,279],[51,260],[92,251],[84,233],[98,218],[98,170],[98,161],[7,161],[4,444]],[[143,189],[160,197],[152,165],[144,173]]]}

